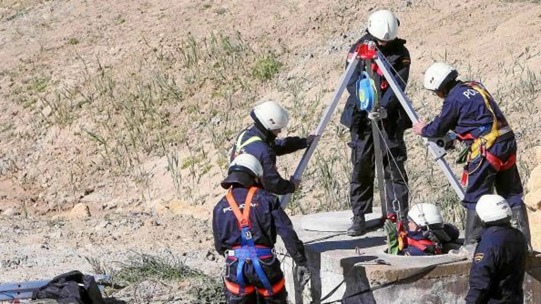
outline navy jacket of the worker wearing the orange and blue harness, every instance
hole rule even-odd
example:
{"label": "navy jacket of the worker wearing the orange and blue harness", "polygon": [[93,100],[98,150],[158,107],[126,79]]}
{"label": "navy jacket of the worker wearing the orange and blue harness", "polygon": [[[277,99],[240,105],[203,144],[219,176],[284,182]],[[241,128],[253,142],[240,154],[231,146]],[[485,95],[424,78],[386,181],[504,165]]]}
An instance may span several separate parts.
{"label": "navy jacket of the worker wearing the orange and blue harness", "polygon": [[[233,188],[233,198],[241,212],[244,210],[247,194],[246,188]],[[306,265],[304,245],[297,237],[286,212],[280,207],[276,195],[259,189],[254,194],[249,218],[255,245],[273,248],[278,233],[296,264]],[[226,250],[240,245],[239,224],[225,197],[214,207],[212,227],[214,247],[219,254],[223,255]]]}

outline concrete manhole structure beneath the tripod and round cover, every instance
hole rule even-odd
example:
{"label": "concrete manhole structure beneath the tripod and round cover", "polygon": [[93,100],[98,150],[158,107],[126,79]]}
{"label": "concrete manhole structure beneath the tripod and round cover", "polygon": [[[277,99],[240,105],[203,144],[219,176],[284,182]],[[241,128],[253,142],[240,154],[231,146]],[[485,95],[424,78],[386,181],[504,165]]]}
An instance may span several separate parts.
{"label": "concrete manhole structure beneath the tripod and round cover", "polygon": [[[333,213],[327,215],[332,217]],[[295,227],[304,223],[302,217],[293,217],[292,221]],[[281,241],[277,242],[276,252],[286,275],[291,303],[464,302],[469,261],[452,255],[386,254],[386,237],[381,230],[354,238],[343,232],[315,232],[301,228],[296,231],[305,243],[312,278],[301,291],[293,275],[294,263]],[[370,265],[377,259],[390,265]],[[525,303],[538,303],[541,299],[541,256],[530,258],[528,263]]]}

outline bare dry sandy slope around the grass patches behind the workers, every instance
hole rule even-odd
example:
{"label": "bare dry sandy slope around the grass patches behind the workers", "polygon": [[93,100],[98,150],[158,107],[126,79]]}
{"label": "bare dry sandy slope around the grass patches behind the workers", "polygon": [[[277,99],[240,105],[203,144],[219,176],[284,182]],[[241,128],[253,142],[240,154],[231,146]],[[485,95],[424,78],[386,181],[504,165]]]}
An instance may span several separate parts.
{"label": "bare dry sandy slope around the grass patches behind the workers", "polygon": [[[97,160],[97,150],[92,148],[88,139],[74,135],[81,126],[89,124],[88,116],[83,114],[64,128],[44,125],[36,121],[38,116],[31,112],[31,107],[25,107],[26,99],[50,97],[58,87],[80,83],[83,60],[89,69],[95,69],[99,59],[115,75],[123,75],[140,62],[145,64],[142,60],[151,53],[147,43],[167,49],[180,43],[188,33],[200,38],[207,37],[211,31],[232,33],[237,30],[254,49],[275,50],[285,63],[275,82],[261,85],[260,97],[284,98],[286,105],[291,106],[291,98],[279,87],[287,84],[290,78],[304,78],[307,80],[303,89],[307,94],[322,90],[325,94],[321,100],[326,103],[338,82],[348,46],[359,37],[366,15],[379,8],[393,9],[401,20],[400,36],[408,40],[407,46],[412,56],[408,92],[415,106],[425,116],[436,114],[439,105],[438,100],[420,90],[422,72],[434,60],[446,58],[457,65],[463,75],[481,78],[493,92],[498,87],[510,86],[509,83],[516,85],[518,74],[505,75],[505,71],[510,71],[512,67],[516,70],[522,66],[529,67],[539,77],[541,6],[529,2],[1,2],[0,209],[20,207],[24,202],[32,219],[23,220],[19,216],[2,220],[4,233],[1,234],[0,243],[10,246],[0,246],[0,256],[3,260],[6,256],[6,261],[21,256],[28,256],[28,260],[3,269],[0,280],[42,278],[72,268],[90,271],[84,261],[85,255],[97,254],[105,261],[113,261],[122,259],[128,249],[160,253],[158,248],[171,247],[179,253],[193,251],[196,255],[200,252],[204,255],[212,250],[209,225],[197,217],[208,220],[209,211],[222,193],[216,185],[223,172],[220,167],[214,167],[199,185],[201,191],[212,195],[208,195],[202,204],[197,204],[202,205],[197,207],[197,211],[185,208],[197,217],[167,215],[161,219],[161,226],[139,226],[129,222],[120,224],[123,217],[131,218],[127,211],[130,208],[143,212],[137,215],[137,221],[144,222],[158,217],[155,215],[155,202],[169,206],[169,200],[174,197],[174,187],[164,170],[167,160],[156,156],[143,160],[147,166],[158,164],[151,180],[153,189],[148,191],[152,193],[149,196],[153,200],[145,202],[140,199],[144,191],[132,181],[111,177],[92,166],[93,161]],[[68,43],[70,38],[76,38],[78,43]],[[43,77],[50,77],[43,91],[26,92],[32,89],[32,79]],[[183,105],[202,103],[208,97],[209,91],[202,90],[184,100]],[[537,108],[532,107],[534,112],[525,111],[522,103],[533,104]],[[182,115],[183,105],[170,111]],[[527,142],[519,142],[520,161],[526,165],[525,170],[533,166],[530,162],[532,154],[526,147],[539,144],[540,137],[536,136],[536,132],[541,130],[539,106],[541,99],[537,96],[535,100],[522,100],[520,107],[504,107],[513,129],[527,138]],[[247,110],[238,112],[246,123],[249,120],[240,113]],[[44,106],[44,117],[48,114],[50,109]],[[333,122],[331,127],[336,125]],[[314,126],[312,124],[312,128]],[[200,134],[188,136],[211,147],[208,144],[210,140],[200,138]],[[412,143],[418,142],[411,136],[408,139]],[[324,145],[320,147],[323,152],[329,151],[332,146],[343,146],[344,151],[347,149],[345,140],[339,139],[333,132],[329,132],[323,142]],[[186,153],[186,150],[181,150],[181,153]],[[217,153],[212,149],[209,151],[210,156]],[[411,144],[411,166],[423,162],[423,154],[418,145]],[[347,151],[344,155],[347,156]],[[291,172],[298,157],[297,153],[284,158],[281,168],[289,166]],[[72,165],[73,159],[80,159],[82,167]],[[428,174],[421,171],[412,175],[412,185],[424,188],[426,182],[422,174],[425,173]],[[78,185],[76,190],[71,191],[74,179]],[[93,193],[85,193],[87,189]],[[37,213],[58,204],[69,207],[79,197],[90,204],[93,214],[90,220],[71,220],[55,228],[54,225],[49,227],[47,220],[57,214],[56,211],[45,215]],[[123,209],[120,212],[100,210],[102,204],[112,199],[121,201]],[[311,201],[305,203],[310,205]],[[93,231],[97,229],[94,227],[100,226],[105,221],[104,217],[113,217],[113,222],[118,222],[113,224],[117,225],[114,231],[105,233],[106,237],[91,237],[89,233],[97,233]],[[191,225],[187,225],[192,223],[206,229],[202,230],[206,231],[204,237],[197,236],[201,244],[198,243],[195,249],[188,240],[183,240],[183,237],[175,239],[171,234],[171,231],[175,231],[194,238]],[[81,234],[79,231],[89,232]],[[69,235],[69,238],[65,235]],[[163,235],[171,237],[163,238]],[[39,248],[44,242],[47,242],[49,249]],[[197,264],[198,261],[200,259],[194,258],[192,262]],[[219,271],[217,264],[208,266],[206,271],[210,273]]]}

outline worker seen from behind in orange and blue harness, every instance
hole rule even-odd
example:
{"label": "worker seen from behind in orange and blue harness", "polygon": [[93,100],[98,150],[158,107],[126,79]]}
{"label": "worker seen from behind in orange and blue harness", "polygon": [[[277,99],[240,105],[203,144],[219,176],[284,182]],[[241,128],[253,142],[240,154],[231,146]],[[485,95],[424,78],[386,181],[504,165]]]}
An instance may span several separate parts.
{"label": "worker seen from behind in orange and blue harness", "polygon": [[227,195],[214,208],[216,251],[226,257],[223,273],[227,303],[286,303],[285,280],[274,254],[276,233],[298,265],[297,279],[304,286],[310,272],[304,245],[276,195],[261,188],[261,163],[243,153],[229,165],[221,186]]}

